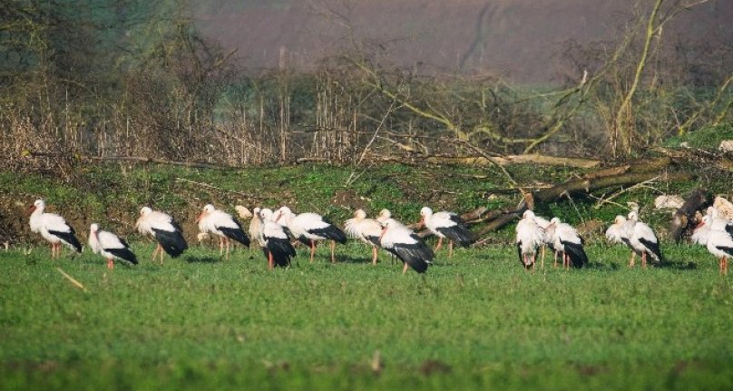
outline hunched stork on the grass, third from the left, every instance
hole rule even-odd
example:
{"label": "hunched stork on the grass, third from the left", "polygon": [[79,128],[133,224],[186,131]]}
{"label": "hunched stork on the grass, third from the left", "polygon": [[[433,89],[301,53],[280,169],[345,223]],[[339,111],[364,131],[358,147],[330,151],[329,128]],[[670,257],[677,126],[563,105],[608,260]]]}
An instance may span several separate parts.
{"label": "hunched stork on the grass, third from the left", "polygon": [[163,250],[172,258],[178,258],[183,251],[189,248],[186,239],[183,238],[183,230],[171,215],[159,210],[151,210],[149,207],[142,207],[140,210],[140,218],[135,222],[135,228],[143,235],[150,235],[158,242],[155,250],[152,252],[152,259],[158,253],[161,254],[161,263],[163,263]]}

